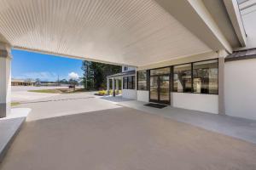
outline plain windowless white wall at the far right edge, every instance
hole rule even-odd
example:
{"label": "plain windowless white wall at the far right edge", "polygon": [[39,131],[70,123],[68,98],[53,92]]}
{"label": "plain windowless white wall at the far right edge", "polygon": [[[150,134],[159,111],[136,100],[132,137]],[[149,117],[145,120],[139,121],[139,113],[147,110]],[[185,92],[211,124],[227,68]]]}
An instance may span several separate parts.
{"label": "plain windowless white wall at the far right edge", "polygon": [[225,112],[256,120],[256,59],[225,63]]}

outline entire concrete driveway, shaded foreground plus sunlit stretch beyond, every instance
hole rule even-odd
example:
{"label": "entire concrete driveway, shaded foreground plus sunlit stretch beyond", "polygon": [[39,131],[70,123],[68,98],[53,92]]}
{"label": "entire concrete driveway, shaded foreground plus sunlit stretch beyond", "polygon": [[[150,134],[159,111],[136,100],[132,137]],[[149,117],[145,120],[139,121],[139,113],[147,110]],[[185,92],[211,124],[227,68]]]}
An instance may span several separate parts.
{"label": "entire concrete driveway, shaded foreground plus sunlit stretch beyond", "polygon": [[30,101],[0,169],[256,169],[256,144],[91,93]]}

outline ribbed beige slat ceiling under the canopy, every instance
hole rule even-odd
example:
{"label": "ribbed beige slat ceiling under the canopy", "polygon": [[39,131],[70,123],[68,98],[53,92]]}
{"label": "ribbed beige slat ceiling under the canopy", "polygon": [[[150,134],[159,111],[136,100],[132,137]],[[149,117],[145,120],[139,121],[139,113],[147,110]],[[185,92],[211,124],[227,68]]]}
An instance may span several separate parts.
{"label": "ribbed beige slat ceiling under the canopy", "polygon": [[211,51],[154,0],[0,0],[1,34],[15,48],[136,66]]}

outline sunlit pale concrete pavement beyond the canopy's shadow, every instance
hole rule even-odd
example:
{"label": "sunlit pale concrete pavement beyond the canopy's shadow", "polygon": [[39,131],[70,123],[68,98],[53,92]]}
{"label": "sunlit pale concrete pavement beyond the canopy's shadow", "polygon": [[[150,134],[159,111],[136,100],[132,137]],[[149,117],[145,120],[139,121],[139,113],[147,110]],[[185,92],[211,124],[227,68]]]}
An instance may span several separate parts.
{"label": "sunlit pale concrete pavement beyond the canopy's shadow", "polygon": [[35,121],[55,116],[67,116],[90,111],[119,108],[118,105],[98,99],[94,93],[58,94],[44,99],[22,102],[14,108],[31,108],[26,121]]}

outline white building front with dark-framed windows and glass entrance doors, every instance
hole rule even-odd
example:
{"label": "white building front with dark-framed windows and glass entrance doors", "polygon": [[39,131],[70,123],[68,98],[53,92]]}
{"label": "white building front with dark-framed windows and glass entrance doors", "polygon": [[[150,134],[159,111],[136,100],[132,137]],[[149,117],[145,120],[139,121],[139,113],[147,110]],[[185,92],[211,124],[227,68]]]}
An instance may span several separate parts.
{"label": "white building front with dark-framed windows and glass entrance doors", "polygon": [[[123,66],[122,96],[256,119],[256,1],[238,1],[247,45],[139,67]],[[129,69],[128,69],[129,68]],[[255,94],[255,95],[252,95]]]}

